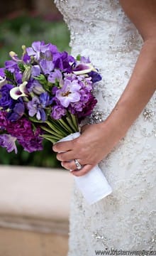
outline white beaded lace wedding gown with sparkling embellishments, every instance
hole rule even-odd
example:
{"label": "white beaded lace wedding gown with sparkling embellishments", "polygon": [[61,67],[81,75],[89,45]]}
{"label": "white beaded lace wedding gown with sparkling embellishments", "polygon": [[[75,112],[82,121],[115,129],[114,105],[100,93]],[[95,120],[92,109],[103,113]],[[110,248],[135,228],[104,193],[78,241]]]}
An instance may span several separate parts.
{"label": "white beaded lace wedding gown with sparkling embellishments", "polygon": [[[91,117],[91,122],[100,122],[126,87],[142,38],[118,0],[55,0],[55,4],[71,31],[72,55],[89,56],[103,77],[95,87],[98,105]],[[111,249],[156,250],[155,96],[100,163],[113,193],[89,206],[74,186],[68,256],[94,256],[98,250]]]}

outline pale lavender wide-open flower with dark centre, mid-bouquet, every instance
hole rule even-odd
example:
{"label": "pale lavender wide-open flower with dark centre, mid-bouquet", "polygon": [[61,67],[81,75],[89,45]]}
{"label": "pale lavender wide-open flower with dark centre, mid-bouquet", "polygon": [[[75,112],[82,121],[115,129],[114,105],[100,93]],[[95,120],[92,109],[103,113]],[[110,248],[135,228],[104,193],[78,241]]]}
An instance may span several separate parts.
{"label": "pale lavender wide-open flower with dark centre, mid-bouquet", "polygon": [[64,85],[56,92],[56,98],[60,100],[63,107],[68,107],[70,102],[78,102],[80,99],[79,89],[81,86],[77,81],[65,80]]}

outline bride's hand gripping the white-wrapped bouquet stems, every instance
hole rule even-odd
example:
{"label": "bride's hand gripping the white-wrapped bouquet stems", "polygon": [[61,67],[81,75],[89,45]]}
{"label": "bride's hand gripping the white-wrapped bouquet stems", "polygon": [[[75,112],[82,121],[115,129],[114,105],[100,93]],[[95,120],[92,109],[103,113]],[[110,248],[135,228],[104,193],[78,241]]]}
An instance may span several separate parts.
{"label": "bride's hand gripping the white-wrapped bouquet stems", "polygon": [[[82,127],[81,136],[69,142],[60,142],[53,146],[57,159],[65,169],[73,170],[74,176],[87,174],[113,149],[118,139],[106,122],[87,124]],[[62,153],[58,153],[62,152]],[[82,169],[77,171],[74,159]]]}

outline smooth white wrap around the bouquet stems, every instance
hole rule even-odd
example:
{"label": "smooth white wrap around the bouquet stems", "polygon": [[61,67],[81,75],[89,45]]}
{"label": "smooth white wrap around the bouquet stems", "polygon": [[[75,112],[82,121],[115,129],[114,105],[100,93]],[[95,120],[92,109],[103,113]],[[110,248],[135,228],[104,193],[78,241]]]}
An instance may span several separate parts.
{"label": "smooth white wrap around the bouquet stems", "polygon": [[[60,139],[59,142],[67,142],[79,136],[80,133],[75,132],[74,134],[69,134],[67,137]],[[108,181],[98,165],[87,174],[84,174],[84,176],[74,176],[74,181],[90,205],[108,196],[112,192],[111,186],[108,184]]]}

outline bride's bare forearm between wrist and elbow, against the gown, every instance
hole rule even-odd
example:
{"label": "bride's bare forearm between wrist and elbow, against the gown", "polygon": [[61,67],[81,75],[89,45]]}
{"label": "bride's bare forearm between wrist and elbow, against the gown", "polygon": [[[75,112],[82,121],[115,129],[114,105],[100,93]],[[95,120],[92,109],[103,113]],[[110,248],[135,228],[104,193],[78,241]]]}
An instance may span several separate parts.
{"label": "bride's bare forearm between wrist and elbow, against the gown", "polygon": [[124,137],[155,89],[156,38],[151,38],[145,41],[128,85],[105,121],[117,140]]}

